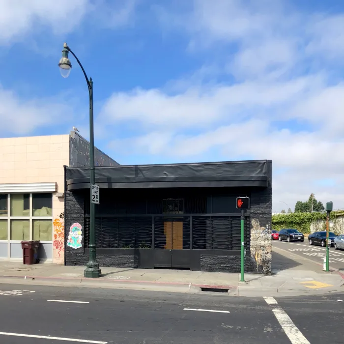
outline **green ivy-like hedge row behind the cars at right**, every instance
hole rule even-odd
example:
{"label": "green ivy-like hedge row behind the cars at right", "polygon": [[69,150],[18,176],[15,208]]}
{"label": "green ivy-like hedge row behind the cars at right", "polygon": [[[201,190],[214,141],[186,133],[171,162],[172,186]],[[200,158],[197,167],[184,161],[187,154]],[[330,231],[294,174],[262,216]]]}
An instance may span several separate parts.
{"label": "green ivy-like hedge row behind the cars at right", "polygon": [[[344,211],[332,211],[330,219],[336,222],[338,216],[344,216]],[[295,228],[302,233],[311,232],[313,221],[325,221],[326,213],[291,213],[272,215],[272,229]]]}

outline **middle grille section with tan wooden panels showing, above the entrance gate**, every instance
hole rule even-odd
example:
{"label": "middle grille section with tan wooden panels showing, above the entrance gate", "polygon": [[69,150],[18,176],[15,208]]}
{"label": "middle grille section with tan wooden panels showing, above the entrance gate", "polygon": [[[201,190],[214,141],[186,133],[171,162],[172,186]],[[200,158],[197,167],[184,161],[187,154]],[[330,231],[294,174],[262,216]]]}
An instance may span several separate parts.
{"label": "middle grille section with tan wooden panels showing, above the entrance gate", "polygon": [[190,218],[155,217],[154,248],[190,249]]}

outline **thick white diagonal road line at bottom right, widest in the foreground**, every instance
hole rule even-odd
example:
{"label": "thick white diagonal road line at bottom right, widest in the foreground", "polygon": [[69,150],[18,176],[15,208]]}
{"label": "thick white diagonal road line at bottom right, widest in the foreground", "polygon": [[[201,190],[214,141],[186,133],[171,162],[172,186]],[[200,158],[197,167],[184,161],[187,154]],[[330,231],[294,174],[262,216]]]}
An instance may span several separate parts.
{"label": "thick white diagonal road line at bottom right, widest in the foreground", "polygon": [[292,344],[311,344],[273,297],[264,297]]}

